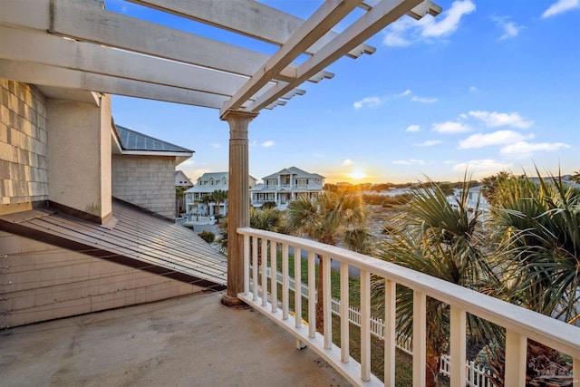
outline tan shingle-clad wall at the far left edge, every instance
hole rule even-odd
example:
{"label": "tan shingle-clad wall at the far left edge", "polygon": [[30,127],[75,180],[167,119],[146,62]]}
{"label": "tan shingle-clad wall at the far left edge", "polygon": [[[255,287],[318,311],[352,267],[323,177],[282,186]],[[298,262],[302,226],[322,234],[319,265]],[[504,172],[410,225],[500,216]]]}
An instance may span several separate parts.
{"label": "tan shingle-clad wall at the far left edge", "polygon": [[0,204],[14,207],[48,198],[46,126],[43,93],[0,79]]}

